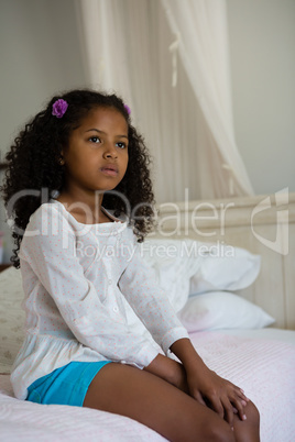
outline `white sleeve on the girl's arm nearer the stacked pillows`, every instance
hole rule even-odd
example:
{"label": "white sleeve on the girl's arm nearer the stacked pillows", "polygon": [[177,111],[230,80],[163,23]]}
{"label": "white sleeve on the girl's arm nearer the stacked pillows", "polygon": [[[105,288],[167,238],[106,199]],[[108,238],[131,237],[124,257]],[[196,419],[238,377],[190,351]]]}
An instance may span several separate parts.
{"label": "white sleeve on the girl's arm nearer the stacked pillows", "polygon": [[155,283],[154,270],[141,256],[140,247],[135,247],[132,259],[119,280],[119,287],[165,353],[175,341],[188,338],[166,292]]}

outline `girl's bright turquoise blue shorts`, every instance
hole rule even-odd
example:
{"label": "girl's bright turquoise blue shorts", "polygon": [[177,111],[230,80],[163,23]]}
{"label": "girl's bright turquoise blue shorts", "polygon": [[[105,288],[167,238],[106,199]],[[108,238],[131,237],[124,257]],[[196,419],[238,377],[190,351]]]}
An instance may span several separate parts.
{"label": "girl's bright turquoise blue shorts", "polygon": [[94,377],[110,362],[70,362],[31,384],[25,400],[36,404],[83,407]]}

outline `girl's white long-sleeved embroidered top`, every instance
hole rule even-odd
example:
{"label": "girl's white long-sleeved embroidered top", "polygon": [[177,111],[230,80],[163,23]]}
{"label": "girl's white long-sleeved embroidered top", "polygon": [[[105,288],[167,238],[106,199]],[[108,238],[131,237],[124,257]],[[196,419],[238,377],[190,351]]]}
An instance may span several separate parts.
{"label": "girl's white long-sleeved embroidered top", "polygon": [[[128,222],[83,224],[57,200],[30,218],[19,252],[26,336],[12,367],[19,399],[37,378],[72,361],[143,368],[188,338],[139,253]],[[154,341],[132,332],[124,300]]]}

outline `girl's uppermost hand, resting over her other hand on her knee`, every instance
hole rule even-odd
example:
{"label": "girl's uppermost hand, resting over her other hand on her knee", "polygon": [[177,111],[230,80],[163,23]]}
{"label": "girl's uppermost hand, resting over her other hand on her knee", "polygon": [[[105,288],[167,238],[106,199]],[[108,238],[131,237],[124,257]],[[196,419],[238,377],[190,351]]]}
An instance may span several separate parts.
{"label": "girl's uppermost hand, resting over her other hand on her knee", "polygon": [[206,365],[197,366],[195,369],[189,367],[187,384],[190,396],[215,410],[230,427],[233,424],[234,413],[238,413],[241,420],[247,419],[244,407],[249,399],[243,390],[218,376]]}

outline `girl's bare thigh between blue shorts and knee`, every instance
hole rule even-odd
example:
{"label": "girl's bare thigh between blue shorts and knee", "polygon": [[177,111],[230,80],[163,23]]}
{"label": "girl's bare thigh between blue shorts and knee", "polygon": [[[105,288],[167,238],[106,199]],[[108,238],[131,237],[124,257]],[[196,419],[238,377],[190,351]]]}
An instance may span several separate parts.
{"label": "girl's bare thigh between blue shorts and knee", "polygon": [[94,378],[84,407],[132,418],[170,441],[233,441],[227,422],[173,385],[139,368],[108,364]]}

